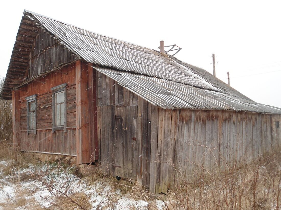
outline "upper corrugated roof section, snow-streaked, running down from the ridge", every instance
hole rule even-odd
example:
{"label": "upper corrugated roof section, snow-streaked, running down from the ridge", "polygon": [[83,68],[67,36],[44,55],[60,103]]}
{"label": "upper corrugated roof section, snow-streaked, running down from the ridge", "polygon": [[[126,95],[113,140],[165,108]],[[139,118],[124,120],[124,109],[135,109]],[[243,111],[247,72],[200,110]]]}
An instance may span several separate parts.
{"label": "upper corrugated roof section, snow-streaked, running down from the ridge", "polygon": [[33,14],[44,28],[87,62],[221,91],[191,69],[155,50]]}

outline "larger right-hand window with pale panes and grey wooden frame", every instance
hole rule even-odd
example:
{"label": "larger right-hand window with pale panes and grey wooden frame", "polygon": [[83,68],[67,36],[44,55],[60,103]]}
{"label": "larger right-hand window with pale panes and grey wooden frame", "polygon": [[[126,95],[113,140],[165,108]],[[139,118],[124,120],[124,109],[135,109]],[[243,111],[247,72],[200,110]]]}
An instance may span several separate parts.
{"label": "larger right-hand window with pale panes and grey wooden frame", "polygon": [[66,132],[66,83],[51,88],[53,91],[53,123],[52,131]]}

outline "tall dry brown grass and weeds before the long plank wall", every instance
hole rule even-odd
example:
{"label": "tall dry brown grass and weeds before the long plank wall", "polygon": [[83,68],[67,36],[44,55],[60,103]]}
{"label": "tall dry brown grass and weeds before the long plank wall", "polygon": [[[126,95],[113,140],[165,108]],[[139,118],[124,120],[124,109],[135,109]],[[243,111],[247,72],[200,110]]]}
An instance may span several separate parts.
{"label": "tall dry brown grass and weeds before the long plank wall", "polygon": [[216,173],[208,174],[206,169],[198,167],[194,181],[178,174],[167,195],[167,206],[169,209],[281,209],[280,163],[281,152],[276,151],[251,164],[225,163],[225,170]]}

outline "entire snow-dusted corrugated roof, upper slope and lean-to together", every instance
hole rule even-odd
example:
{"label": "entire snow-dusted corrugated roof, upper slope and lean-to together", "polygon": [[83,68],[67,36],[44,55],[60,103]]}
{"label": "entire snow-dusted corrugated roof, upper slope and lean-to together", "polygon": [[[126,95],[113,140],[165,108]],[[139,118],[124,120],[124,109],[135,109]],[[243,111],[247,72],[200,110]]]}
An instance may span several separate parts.
{"label": "entire snow-dusted corrugated roof, upper slope and lean-to together", "polygon": [[[24,11],[24,17],[45,28],[81,59],[98,64],[98,71],[162,108],[281,113],[280,108],[255,103],[207,71],[175,57],[30,11]],[[6,92],[12,86],[4,85]]]}

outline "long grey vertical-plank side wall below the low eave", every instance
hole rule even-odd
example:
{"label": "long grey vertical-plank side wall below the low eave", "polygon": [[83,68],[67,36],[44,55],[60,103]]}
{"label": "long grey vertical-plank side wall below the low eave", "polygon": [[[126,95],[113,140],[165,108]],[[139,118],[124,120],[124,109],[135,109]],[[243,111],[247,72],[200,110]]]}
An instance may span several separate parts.
{"label": "long grey vertical-plank side wall below the low eave", "polygon": [[275,126],[280,120],[281,115],[156,108],[151,111],[151,192],[167,193],[175,174],[199,178],[202,168],[261,157],[280,146],[281,129]]}

